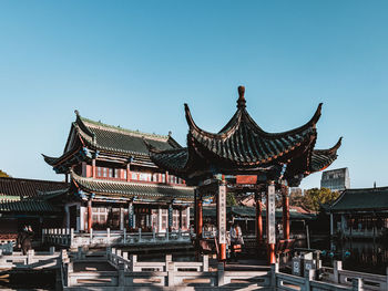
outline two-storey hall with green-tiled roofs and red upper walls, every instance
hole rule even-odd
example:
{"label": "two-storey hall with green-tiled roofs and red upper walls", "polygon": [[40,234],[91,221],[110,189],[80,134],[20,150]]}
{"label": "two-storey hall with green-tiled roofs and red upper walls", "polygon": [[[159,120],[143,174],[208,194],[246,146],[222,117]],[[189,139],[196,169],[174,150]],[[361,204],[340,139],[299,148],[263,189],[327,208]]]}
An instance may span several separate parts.
{"label": "two-storey hall with green-tiled roofs and red upper walls", "polygon": [[55,202],[63,206],[64,227],[187,230],[193,187],[159,168],[143,143],[165,150],[181,148],[171,134],[145,134],[81,117],[78,111],[75,115],[63,154],[43,155],[70,183]]}

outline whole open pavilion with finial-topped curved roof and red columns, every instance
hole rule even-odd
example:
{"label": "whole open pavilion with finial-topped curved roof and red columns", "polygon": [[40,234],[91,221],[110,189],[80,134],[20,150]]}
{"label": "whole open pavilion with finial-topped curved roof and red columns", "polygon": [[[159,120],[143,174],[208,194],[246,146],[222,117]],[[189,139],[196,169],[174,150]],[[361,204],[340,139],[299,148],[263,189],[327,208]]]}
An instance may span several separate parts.
{"label": "whole open pavilion with finial-topped curved roof and red columns", "polygon": [[[226,259],[226,193],[255,193],[256,239],[263,243],[262,193],[266,193],[268,261],[275,262],[275,191],[283,195],[283,233],[289,239],[288,187],[328,167],[337,158],[341,139],[329,149],[315,149],[318,105],[313,117],[303,126],[284,132],[267,133],[246,111],[245,89],[238,87],[237,111],[218,132],[200,128],[185,104],[188,124],[187,146],[161,150],[147,141],[151,159],[160,168],[197,186],[195,190],[195,232],[202,238],[204,197],[217,201],[219,260]],[[200,246],[200,243],[197,245]]]}

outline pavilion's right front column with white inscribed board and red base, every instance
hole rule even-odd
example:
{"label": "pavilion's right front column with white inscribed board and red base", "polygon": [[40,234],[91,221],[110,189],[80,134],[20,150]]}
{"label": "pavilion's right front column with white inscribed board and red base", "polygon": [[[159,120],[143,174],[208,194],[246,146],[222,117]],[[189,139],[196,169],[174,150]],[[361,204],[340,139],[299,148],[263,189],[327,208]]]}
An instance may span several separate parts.
{"label": "pavilion's right front column with white inscribed board and red base", "polygon": [[276,216],[275,216],[275,185],[270,181],[267,188],[267,253],[268,263],[275,263]]}

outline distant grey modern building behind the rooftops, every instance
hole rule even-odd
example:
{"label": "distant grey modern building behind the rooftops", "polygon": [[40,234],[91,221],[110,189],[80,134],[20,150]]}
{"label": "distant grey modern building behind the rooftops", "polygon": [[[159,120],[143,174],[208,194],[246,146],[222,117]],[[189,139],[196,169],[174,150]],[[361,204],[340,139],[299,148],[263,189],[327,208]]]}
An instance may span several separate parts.
{"label": "distant grey modern building behind the rooftops", "polygon": [[321,174],[320,188],[329,188],[331,191],[341,191],[350,188],[349,169],[325,170]]}

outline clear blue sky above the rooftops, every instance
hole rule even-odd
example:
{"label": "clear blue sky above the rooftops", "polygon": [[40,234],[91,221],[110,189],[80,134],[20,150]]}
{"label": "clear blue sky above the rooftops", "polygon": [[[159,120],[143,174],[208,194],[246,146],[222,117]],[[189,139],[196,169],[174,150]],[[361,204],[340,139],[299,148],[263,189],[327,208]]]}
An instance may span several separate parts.
{"label": "clear blue sky above the rooftops", "polygon": [[387,1],[1,1],[0,168],[63,179],[40,154],[62,153],[75,108],[185,144],[183,103],[216,132],[242,84],[268,132],[324,102],[317,147],[344,136],[330,168],[388,186],[387,15]]}

